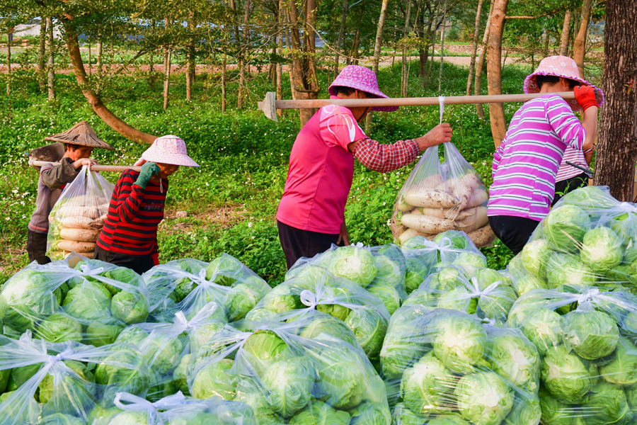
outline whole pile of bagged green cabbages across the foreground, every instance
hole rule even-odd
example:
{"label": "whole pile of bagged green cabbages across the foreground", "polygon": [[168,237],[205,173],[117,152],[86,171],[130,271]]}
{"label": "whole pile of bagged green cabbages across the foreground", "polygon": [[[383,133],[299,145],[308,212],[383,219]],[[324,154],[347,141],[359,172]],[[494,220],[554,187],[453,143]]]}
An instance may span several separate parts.
{"label": "whole pile of bagged green cabbages across the foreground", "polygon": [[505,271],[453,230],[275,288],[227,254],[32,264],[0,290],[0,425],[633,423],[636,212],[570,193]]}

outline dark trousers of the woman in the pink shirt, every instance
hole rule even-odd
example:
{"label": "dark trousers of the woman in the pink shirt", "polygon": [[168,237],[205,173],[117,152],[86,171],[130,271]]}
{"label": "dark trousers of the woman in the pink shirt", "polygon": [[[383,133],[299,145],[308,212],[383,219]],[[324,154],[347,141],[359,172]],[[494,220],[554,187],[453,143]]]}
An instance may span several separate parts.
{"label": "dark trousers of the woman in the pink shirt", "polygon": [[[285,254],[287,268],[292,268],[302,256],[311,258],[325,252],[338,241],[338,234],[310,232],[288,226],[277,220],[279,240]],[[342,242],[341,242],[342,243]]]}

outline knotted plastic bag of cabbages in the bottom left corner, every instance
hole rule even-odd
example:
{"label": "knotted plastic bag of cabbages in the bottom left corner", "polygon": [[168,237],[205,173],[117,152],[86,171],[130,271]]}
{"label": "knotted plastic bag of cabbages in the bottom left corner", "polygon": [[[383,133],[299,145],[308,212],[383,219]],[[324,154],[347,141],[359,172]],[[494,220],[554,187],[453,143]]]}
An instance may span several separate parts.
{"label": "knotted plastic bag of cabbages in the bottom left corner", "polygon": [[146,364],[130,347],[0,337],[0,424],[85,424],[119,391],[144,395]]}

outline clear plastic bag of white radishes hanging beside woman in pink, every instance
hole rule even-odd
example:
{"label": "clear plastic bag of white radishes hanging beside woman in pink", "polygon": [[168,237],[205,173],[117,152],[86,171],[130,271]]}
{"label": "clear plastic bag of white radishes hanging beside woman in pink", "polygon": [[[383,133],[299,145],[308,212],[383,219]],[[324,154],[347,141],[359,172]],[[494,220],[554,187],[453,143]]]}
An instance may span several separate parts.
{"label": "clear plastic bag of white radishes hanging beside woman in pink", "polygon": [[438,147],[430,147],[398,192],[391,232],[396,243],[414,236],[433,239],[447,230],[469,234],[476,246],[493,242],[487,218],[488,192],[476,170],[452,143],[444,143],[444,162]]}

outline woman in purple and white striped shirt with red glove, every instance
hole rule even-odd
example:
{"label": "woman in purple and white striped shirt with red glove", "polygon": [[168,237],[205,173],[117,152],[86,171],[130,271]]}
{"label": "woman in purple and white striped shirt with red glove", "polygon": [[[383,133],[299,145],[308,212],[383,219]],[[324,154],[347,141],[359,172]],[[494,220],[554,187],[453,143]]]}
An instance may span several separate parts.
{"label": "woman in purple and white striped shirt with red glove", "polygon": [[[567,102],[556,93],[575,91]],[[580,78],[575,61],[545,57],[524,80],[524,92],[541,93],[517,110],[493,155],[488,216],[493,232],[514,254],[522,251],[549,214],[558,167],[567,147],[592,152],[602,91]],[[583,121],[573,111],[583,111]]]}

